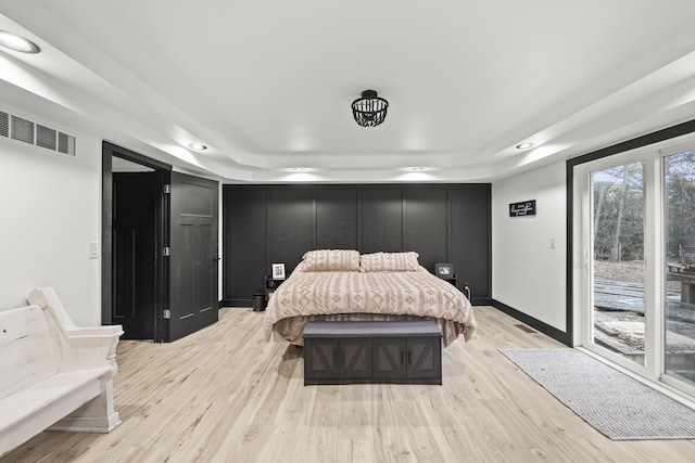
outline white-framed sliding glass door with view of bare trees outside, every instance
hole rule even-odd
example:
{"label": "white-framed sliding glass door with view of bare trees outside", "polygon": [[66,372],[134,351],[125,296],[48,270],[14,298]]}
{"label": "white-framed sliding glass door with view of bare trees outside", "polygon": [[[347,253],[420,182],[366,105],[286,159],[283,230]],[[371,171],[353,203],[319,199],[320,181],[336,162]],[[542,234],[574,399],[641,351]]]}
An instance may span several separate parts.
{"label": "white-framed sliding glass door with view of bare trees outside", "polygon": [[581,345],[695,398],[691,140],[574,167],[573,272]]}

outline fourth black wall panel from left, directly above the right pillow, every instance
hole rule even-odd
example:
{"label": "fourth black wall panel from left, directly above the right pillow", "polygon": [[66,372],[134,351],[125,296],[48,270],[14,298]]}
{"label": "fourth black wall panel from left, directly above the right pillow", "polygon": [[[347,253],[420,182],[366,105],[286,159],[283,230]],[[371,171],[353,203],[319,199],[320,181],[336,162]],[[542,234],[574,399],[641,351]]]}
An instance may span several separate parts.
{"label": "fourth black wall panel from left, directly above the right pillow", "polygon": [[401,189],[362,190],[362,252],[403,250],[403,192]]}

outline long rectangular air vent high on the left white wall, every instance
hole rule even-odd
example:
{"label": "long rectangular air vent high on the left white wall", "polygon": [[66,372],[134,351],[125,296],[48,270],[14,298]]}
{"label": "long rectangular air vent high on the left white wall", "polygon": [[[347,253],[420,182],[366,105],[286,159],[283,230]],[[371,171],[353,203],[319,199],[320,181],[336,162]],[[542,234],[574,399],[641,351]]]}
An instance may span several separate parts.
{"label": "long rectangular air vent high on the left white wall", "polygon": [[0,137],[75,155],[75,137],[0,111]]}

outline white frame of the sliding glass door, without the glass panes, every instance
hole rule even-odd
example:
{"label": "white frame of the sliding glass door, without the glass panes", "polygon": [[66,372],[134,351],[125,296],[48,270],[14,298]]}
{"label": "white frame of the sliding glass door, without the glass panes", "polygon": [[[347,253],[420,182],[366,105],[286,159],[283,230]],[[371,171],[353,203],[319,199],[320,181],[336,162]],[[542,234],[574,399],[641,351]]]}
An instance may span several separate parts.
{"label": "white frame of the sliding glass door, without the glass panes", "polygon": [[[580,158],[568,160],[568,228],[569,247],[568,329],[571,333],[573,347],[583,348],[591,353],[604,358],[623,371],[634,373],[641,380],[652,384],[657,389],[672,397],[684,398],[687,403],[694,403],[695,386],[666,374],[666,343],[665,343],[665,310],[666,310],[666,243],[664,227],[666,214],[664,210],[664,158],[671,154],[692,151],[695,149],[695,120],[673,128],[669,133],[653,133],[644,137],[644,141],[635,139],[626,142],[623,146],[633,150],[617,151],[620,145],[601,150]],[[680,133],[679,133],[680,132]],[[635,147],[636,146],[636,147]],[[606,154],[603,154],[606,153]],[[643,162],[645,179],[645,364],[640,365],[629,359],[611,352],[601,346],[593,345],[593,262],[591,244],[593,240],[592,227],[592,190],[591,172],[616,167],[633,162]]]}

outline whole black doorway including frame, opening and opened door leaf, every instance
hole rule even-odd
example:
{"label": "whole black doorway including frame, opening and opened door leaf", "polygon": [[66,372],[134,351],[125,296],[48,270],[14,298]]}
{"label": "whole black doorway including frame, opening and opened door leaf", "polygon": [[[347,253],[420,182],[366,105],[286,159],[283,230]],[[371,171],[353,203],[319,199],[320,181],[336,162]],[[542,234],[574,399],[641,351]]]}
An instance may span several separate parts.
{"label": "whole black doorway including frame, opening and opened door leaf", "polygon": [[166,343],[217,321],[218,197],[217,181],[103,143],[103,324]]}

